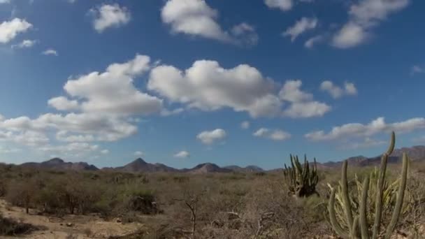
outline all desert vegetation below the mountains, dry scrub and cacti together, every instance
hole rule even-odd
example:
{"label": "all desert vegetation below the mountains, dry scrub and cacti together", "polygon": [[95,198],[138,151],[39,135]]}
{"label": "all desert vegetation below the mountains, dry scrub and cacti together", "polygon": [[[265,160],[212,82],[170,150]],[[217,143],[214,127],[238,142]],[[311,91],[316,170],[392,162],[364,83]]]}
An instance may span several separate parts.
{"label": "all desert vegetation below the mountains, dry scrub and cacti together", "polygon": [[[384,154],[383,162],[390,153]],[[49,222],[64,224],[64,227],[69,220],[71,231],[67,235],[75,237],[99,236],[96,231],[99,224],[89,227],[82,220],[80,231],[73,226],[80,222],[76,218],[93,217],[98,220],[96,222],[110,222],[117,227],[134,224],[133,229],[126,229],[125,235],[111,234],[110,238],[329,238],[335,232],[341,237],[354,233],[360,238],[362,225],[363,229],[366,225],[369,238],[373,238],[375,218],[381,214],[377,236],[384,236],[387,231],[395,233],[392,228],[396,226],[399,234],[424,238],[424,163],[412,161],[409,180],[405,180],[406,160],[403,167],[382,164],[379,171],[372,167],[350,168],[348,171],[345,164],[343,180],[338,185],[340,168],[318,171],[317,166],[306,159],[304,165],[298,165],[296,157],[292,159],[294,171],[289,173],[287,169],[287,180],[284,180],[282,171],[119,173],[0,165],[0,186],[3,185],[0,204],[4,200],[8,202],[7,205],[1,204],[0,210],[5,215],[21,210],[25,215],[28,208],[26,218],[43,217]],[[296,165],[301,166],[300,175],[304,176],[294,178],[294,194],[288,194],[288,187],[283,187],[282,182],[291,182],[289,175],[299,171]],[[305,184],[310,187],[308,190],[294,187],[305,183],[299,181],[297,184],[296,180],[306,178],[309,178]],[[405,203],[402,203],[399,189],[403,189],[404,184],[405,190],[401,191],[405,193]],[[297,191],[303,191],[303,194],[297,194]],[[310,194],[305,194],[306,191]],[[381,199],[377,197],[380,194]],[[333,201],[334,219],[328,216],[329,198]],[[347,220],[346,200],[350,202],[352,224]],[[377,208],[380,208],[378,212]],[[402,217],[398,217],[398,211]],[[396,219],[391,219],[392,215]],[[19,218],[0,219],[2,235],[26,231],[21,230],[22,226],[27,226],[27,231],[40,226],[31,227]],[[333,229],[331,221],[337,221],[343,233]],[[354,222],[357,226],[348,226]],[[356,231],[350,232],[350,228],[356,228]]]}

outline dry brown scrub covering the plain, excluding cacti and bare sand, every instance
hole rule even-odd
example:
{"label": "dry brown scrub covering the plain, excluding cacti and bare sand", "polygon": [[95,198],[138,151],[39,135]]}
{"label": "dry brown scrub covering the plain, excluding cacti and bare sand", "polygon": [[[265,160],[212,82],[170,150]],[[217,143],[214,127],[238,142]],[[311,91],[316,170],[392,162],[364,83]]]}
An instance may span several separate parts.
{"label": "dry brown scrub covering the plain, excluding cacti and bare sand", "polygon": [[[398,171],[396,166],[389,168],[393,169]],[[368,171],[370,168],[355,168],[349,177]],[[120,224],[143,224],[138,231],[113,238],[326,238],[333,234],[325,218],[326,183],[335,185],[339,179],[339,169],[319,171],[320,197],[293,198],[279,172],[75,173],[0,166],[0,193],[12,205],[28,205],[30,212],[38,212],[40,217],[73,213],[111,222],[119,218]],[[399,226],[417,238],[423,236],[425,223],[424,179],[425,164],[412,166],[409,190],[415,210]],[[27,182],[31,187],[24,187]],[[22,195],[29,199],[22,201]],[[93,233],[87,228],[80,231],[87,238]]]}

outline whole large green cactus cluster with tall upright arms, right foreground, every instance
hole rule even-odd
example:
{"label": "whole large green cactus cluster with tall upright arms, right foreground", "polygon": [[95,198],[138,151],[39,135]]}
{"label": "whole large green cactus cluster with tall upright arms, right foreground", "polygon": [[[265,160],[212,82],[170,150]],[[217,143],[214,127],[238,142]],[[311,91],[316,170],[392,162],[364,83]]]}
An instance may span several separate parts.
{"label": "whole large green cactus cluster with tall upright arms, right foreground", "polygon": [[[403,167],[401,178],[387,184],[385,173],[389,154],[393,152],[395,134],[391,134],[391,144],[387,152],[382,155],[380,171],[376,169],[370,177],[366,176],[363,183],[356,177],[358,197],[349,193],[347,183],[347,161],[343,163],[342,179],[338,191],[331,187],[329,199],[329,219],[333,230],[342,238],[377,239],[390,238],[398,218],[403,210],[406,182],[408,178],[409,159],[403,154]],[[398,190],[396,191],[396,188]],[[370,193],[370,198],[369,194]],[[375,194],[375,195],[374,195]],[[373,200],[371,200],[373,198]],[[336,207],[338,205],[338,207]],[[394,208],[391,208],[394,205]],[[373,212],[373,210],[375,212]],[[386,225],[386,230],[381,230],[382,215],[391,212],[391,221]],[[339,222],[338,222],[339,221]],[[373,224],[369,222],[373,221]]]}

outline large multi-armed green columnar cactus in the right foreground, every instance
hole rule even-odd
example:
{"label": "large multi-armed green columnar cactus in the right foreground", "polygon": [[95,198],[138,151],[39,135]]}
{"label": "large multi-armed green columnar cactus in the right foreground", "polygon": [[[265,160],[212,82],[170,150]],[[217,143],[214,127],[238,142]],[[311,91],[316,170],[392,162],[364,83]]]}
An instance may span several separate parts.
{"label": "large multi-armed green columnar cactus in the right foreground", "polygon": [[[366,176],[363,181],[363,186],[361,187],[361,191],[358,191],[358,194],[361,194],[360,202],[359,202],[359,212],[357,215],[353,217],[352,210],[352,199],[350,198],[348,192],[348,184],[347,184],[347,161],[343,163],[342,170],[342,179],[340,183],[340,187],[342,187],[342,194],[340,195],[340,204],[343,206],[344,214],[343,216],[339,215],[337,217],[335,210],[335,198],[336,198],[336,189],[331,189],[331,197],[329,199],[329,219],[331,221],[331,226],[336,233],[342,238],[361,238],[361,239],[377,239],[381,238],[390,238],[394,229],[396,228],[396,224],[398,222],[398,218],[400,217],[401,210],[403,207],[403,199],[405,196],[406,182],[408,178],[408,164],[409,159],[407,154],[403,154],[403,167],[401,172],[400,184],[398,186],[398,192],[396,196],[396,203],[394,205],[394,210],[391,216],[391,222],[387,225],[387,229],[385,231],[381,231],[380,226],[382,224],[382,208],[383,208],[383,197],[385,191],[385,185],[387,185],[385,181],[385,173],[387,171],[387,162],[389,154],[391,154],[394,150],[396,137],[394,132],[391,133],[391,143],[387,152],[382,155],[381,158],[381,166],[379,172],[379,178],[377,179],[376,185],[370,185],[370,178]],[[368,205],[368,191],[369,187],[375,187],[376,195],[375,195],[375,213],[374,213],[374,222],[373,225],[368,225],[368,215],[367,209],[371,208],[373,205]],[[338,222],[338,219],[342,220],[343,226]],[[370,231],[371,228],[371,231]]]}

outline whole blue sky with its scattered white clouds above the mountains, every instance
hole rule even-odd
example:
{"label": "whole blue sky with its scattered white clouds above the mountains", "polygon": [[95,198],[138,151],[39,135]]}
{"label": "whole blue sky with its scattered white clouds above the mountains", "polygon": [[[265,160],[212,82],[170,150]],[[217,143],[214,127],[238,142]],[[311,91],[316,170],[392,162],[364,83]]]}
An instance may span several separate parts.
{"label": "whole blue sky with its scattered white clouds above the mountains", "polygon": [[425,2],[0,0],[0,161],[277,168],[425,143]]}

